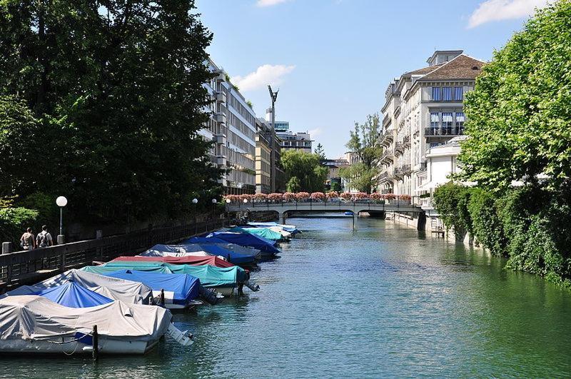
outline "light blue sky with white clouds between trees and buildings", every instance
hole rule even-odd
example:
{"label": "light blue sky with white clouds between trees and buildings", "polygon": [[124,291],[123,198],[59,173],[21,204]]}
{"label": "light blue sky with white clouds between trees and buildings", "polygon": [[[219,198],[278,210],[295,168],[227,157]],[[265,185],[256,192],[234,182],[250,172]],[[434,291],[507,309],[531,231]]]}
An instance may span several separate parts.
{"label": "light blue sky with white clouds between trees and buildings", "polygon": [[355,122],[380,113],[390,81],[435,50],[489,61],[547,0],[197,0],[208,53],[258,117],[309,131],[328,158]]}

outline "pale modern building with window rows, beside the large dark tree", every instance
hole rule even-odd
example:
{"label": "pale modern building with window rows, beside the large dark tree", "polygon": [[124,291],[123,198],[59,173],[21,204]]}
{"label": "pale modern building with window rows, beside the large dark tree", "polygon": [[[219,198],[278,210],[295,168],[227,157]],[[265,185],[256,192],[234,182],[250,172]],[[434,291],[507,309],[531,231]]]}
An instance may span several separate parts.
{"label": "pale modern building with window rows, beside the large dark tree", "polygon": [[254,193],[256,114],[240,91],[230,83],[223,69],[211,60],[208,60],[208,66],[216,77],[205,84],[212,98],[205,111],[211,116],[201,135],[214,142],[211,162],[227,170],[219,179],[224,192]]}

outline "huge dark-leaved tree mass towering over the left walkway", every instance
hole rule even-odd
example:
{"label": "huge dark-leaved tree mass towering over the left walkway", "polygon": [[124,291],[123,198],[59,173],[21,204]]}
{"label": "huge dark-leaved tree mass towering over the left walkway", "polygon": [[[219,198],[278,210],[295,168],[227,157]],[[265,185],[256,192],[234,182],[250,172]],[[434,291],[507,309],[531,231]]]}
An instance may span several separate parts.
{"label": "huge dark-leaved tree mass towering over the left walkway", "polygon": [[219,174],[197,133],[211,38],[193,0],[1,1],[0,95],[22,114],[2,132],[39,148],[0,167],[14,183],[0,195],[61,193],[106,219],[183,211]]}

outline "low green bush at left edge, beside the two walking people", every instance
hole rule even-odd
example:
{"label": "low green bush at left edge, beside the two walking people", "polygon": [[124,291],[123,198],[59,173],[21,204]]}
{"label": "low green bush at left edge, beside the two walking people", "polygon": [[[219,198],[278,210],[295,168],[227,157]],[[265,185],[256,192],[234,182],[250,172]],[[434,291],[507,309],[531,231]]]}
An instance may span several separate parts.
{"label": "low green bush at left edge, beside the two walking people", "polygon": [[20,237],[26,228],[39,230],[37,224],[38,212],[26,208],[0,209],[0,242],[11,242],[14,250],[18,251]]}

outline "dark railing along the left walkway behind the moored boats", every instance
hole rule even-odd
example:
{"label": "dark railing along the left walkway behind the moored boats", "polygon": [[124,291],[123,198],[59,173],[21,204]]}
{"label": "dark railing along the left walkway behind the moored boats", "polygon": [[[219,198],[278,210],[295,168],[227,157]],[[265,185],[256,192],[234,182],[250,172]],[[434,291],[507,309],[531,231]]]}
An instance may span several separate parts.
{"label": "dark railing along the left walkway behind the moored boats", "polygon": [[191,223],[168,228],[148,229],[119,236],[64,243],[49,248],[17,251],[0,255],[0,286],[34,280],[45,275],[86,266],[93,261],[106,261],[121,255],[133,255],[157,243],[181,241],[199,233],[228,226],[230,218]]}

